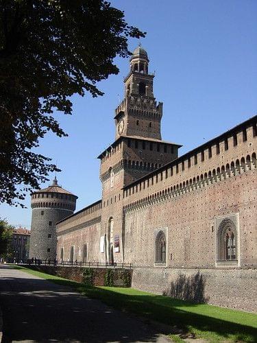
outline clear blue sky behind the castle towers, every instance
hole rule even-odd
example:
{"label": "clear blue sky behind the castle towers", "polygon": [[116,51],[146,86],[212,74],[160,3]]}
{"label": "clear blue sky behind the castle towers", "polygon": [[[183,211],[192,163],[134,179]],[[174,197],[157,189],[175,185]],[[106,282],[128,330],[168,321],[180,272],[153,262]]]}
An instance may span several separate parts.
{"label": "clear blue sky behind the castle towers", "polygon": [[[147,32],[141,40],[164,102],[162,139],[180,155],[257,113],[256,0],[115,0],[125,19]],[[138,45],[130,40],[130,49]],[[97,47],[95,47],[97,49]],[[114,141],[114,108],[123,98],[129,62],[98,84],[103,97],[73,97],[73,115],[56,114],[67,138],[48,134],[38,152],[58,161],[57,178],[79,198],[77,210],[101,198],[97,156]],[[51,175],[52,179],[54,176]],[[47,187],[47,184],[42,187]],[[0,206],[0,217],[30,228],[32,210]]]}

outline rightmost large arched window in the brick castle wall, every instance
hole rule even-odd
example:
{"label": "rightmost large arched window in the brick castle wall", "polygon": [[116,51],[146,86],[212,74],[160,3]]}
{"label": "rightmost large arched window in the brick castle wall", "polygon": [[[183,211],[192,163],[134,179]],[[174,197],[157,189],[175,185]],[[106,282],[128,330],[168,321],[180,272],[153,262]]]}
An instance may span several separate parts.
{"label": "rightmost large arched window in the brick castle wall", "polygon": [[219,225],[217,232],[218,260],[232,261],[236,254],[236,226],[232,220],[225,218]]}

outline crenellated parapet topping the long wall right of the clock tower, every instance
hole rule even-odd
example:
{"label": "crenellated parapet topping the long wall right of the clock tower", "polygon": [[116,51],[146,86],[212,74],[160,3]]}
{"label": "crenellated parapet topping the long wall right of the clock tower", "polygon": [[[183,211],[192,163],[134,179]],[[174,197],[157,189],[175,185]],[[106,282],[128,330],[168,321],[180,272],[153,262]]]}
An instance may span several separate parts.
{"label": "crenellated parapet topping the long wall right of the clock tower", "polygon": [[256,169],[256,118],[124,187],[123,209],[182,196]]}

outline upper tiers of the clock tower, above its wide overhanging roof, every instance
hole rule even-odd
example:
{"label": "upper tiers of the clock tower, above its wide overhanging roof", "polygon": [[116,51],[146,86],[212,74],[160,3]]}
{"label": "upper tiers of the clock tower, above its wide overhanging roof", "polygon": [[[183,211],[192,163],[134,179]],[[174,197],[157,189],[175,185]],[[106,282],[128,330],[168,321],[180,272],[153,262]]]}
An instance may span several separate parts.
{"label": "upper tiers of the clock tower, above its wide overhanging roof", "polygon": [[148,72],[148,64],[147,51],[137,47],[124,80],[125,97],[115,110],[116,139],[121,136],[162,139],[162,103],[157,104],[154,98],[154,74]]}

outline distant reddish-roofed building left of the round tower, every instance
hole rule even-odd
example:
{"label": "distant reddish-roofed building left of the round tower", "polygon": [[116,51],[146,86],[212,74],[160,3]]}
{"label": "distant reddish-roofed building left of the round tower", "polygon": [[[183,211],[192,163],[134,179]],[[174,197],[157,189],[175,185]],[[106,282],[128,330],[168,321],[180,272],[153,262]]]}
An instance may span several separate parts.
{"label": "distant reddish-roofed building left of the round tower", "polygon": [[27,261],[29,257],[30,230],[16,228],[12,235],[12,252],[16,262]]}

